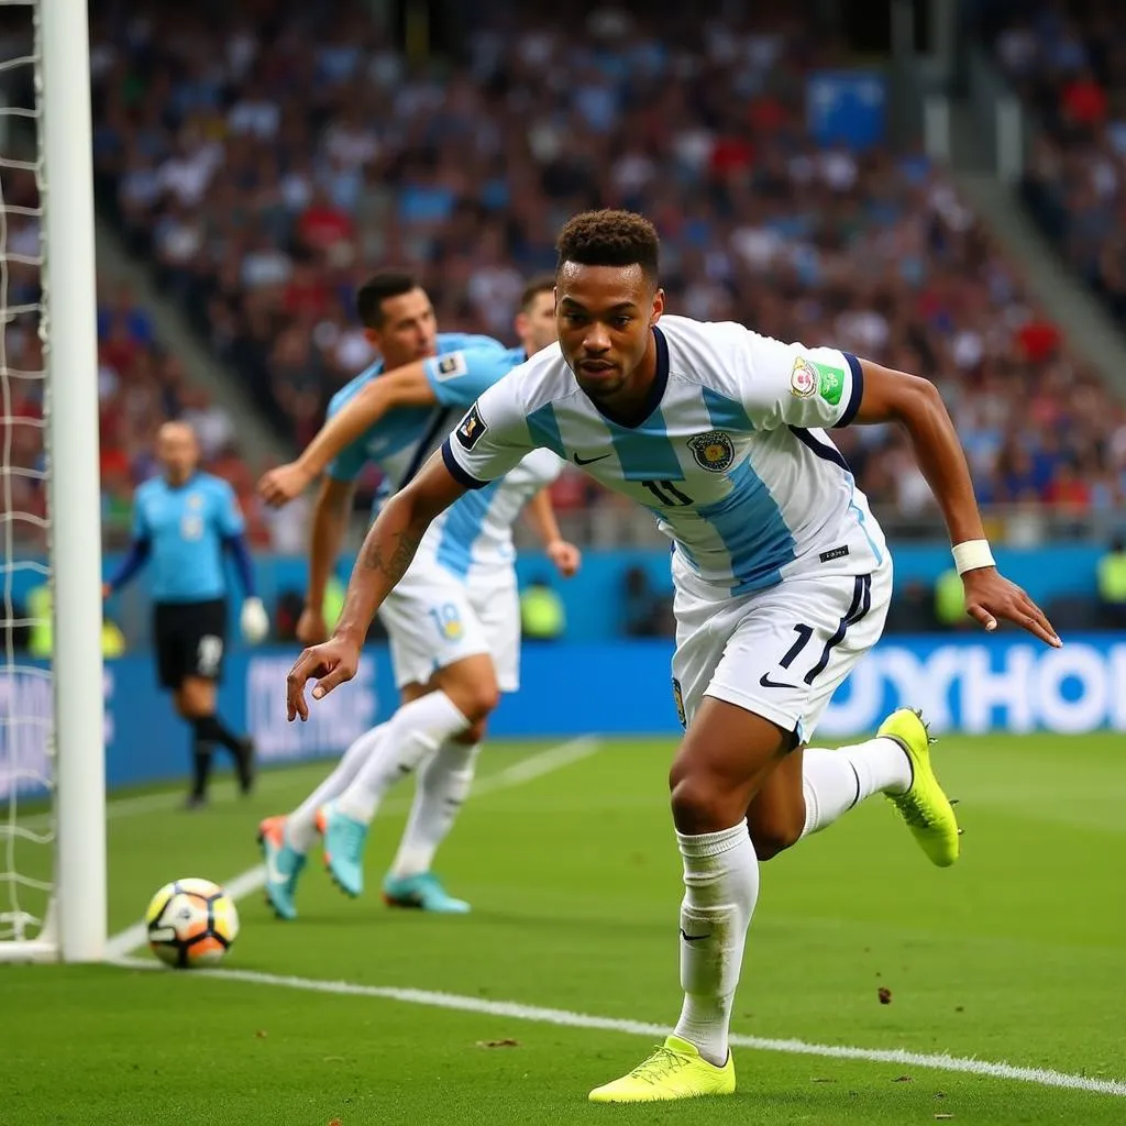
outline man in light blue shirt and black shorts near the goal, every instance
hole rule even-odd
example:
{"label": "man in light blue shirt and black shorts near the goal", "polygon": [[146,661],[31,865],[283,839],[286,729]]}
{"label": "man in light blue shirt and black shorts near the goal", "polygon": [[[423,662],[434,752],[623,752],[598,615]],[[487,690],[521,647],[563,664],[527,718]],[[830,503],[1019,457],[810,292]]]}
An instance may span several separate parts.
{"label": "man in light blue shirt and black shorts near the goal", "polygon": [[166,422],[157,439],[163,472],[137,489],[133,544],[104,588],[108,598],[148,561],[152,565],[153,644],[160,682],[172,692],[177,712],[191,725],[194,778],[188,806],[206,802],[212,753],[217,744],[234,757],[243,793],[253,780],[253,747],[218,717],[215,686],[226,646],[225,553],[239,569],[245,592],[242,632],[262,641],[269,622],[254,595],[254,569],[243,536],[234,490],[200,473],[191,428]]}

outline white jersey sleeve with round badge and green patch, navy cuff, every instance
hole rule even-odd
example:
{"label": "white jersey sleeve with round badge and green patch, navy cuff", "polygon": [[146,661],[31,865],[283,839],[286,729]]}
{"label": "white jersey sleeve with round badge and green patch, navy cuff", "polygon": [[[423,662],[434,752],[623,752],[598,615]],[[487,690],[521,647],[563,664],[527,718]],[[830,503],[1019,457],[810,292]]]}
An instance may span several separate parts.
{"label": "white jersey sleeve with round badge and green patch, navy cuff", "polygon": [[843,427],[860,409],[864,369],[851,352],[747,332],[740,390],[751,422],[761,430]]}

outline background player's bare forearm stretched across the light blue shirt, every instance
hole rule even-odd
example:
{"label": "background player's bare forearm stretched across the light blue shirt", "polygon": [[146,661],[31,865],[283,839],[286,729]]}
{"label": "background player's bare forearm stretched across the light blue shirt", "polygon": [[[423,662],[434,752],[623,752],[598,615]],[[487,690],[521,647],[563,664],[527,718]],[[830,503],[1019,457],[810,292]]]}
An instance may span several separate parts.
{"label": "background player's bare forearm stretched across the light blue shirt", "polygon": [[355,399],[328,419],[295,462],[262,475],[258,491],[268,504],[284,506],[300,497],[341,450],[360,438],[396,406],[430,406],[437,396],[422,361],[376,376]]}

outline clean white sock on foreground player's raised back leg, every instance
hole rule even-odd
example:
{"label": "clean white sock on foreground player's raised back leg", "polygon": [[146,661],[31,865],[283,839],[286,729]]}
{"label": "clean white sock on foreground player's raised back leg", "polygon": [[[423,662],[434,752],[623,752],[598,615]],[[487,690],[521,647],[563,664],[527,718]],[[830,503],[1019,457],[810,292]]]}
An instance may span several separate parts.
{"label": "clean white sock on foreground player's raised back leg", "polygon": [[910,785],[911,760],[894,739],[869,739],[835,751],[807,747],[802,758],[802,835],[831,825],[873,794],[902,794]]}

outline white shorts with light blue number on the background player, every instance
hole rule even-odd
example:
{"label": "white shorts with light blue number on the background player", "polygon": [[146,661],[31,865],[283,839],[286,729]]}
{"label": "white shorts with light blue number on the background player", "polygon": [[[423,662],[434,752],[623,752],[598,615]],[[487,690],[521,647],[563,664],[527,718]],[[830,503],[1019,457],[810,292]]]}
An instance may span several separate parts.
{"label": "white shorts with light blue number on the background player", "polygon": [[520,687],[520,601],[516,573],[462,582],[419,556],[379,607],[387,631],[395,686],[425,685],[438,669],[488,653],[502,692]]}

